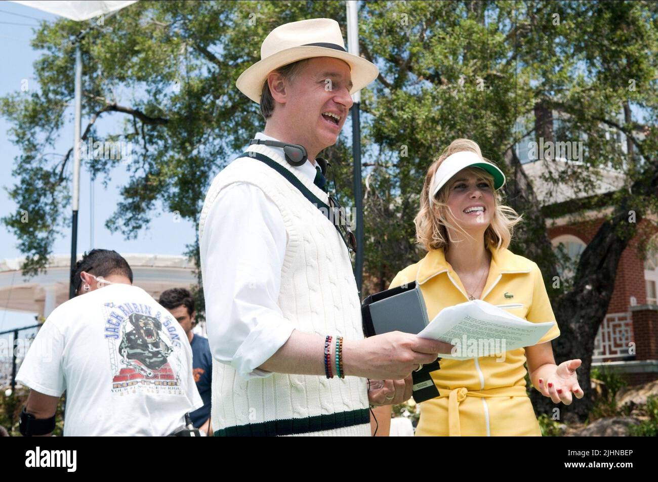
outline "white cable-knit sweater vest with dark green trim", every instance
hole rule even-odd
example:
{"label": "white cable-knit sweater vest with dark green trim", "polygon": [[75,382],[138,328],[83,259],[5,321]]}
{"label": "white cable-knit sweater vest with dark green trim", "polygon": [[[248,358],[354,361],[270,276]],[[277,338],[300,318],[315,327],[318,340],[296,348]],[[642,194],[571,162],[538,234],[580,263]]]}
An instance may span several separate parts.
{"label": "white cable-knit sweater vest with dark green trim", "polygon": [[[276,151],[263,145],[247,151],[272,158],[328,202],[326,193]],[[218,193],[232,183],[259,187],[282,214],[288,241],[278,306],[284,318],[299,331],[332,335],[332,343],[336,335],[363,339],[361,303],[342,238],[315,205],[265,163],[239,158],[216,176],[201,211],[199,240]],[[358,377],[275,373],[246,381],[213,360],[212,407],[215,435],[370,435],[366,380]]]}

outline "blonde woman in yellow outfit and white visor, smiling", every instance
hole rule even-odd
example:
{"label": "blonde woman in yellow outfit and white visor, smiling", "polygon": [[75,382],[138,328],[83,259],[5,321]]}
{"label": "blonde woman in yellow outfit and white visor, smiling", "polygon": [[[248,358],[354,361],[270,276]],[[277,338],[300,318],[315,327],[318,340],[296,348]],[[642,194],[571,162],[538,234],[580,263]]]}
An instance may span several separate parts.
{"label": "blonde woman in yellow outfit and white visor, smiling", "polygon": [[[529,322],[555,321],[537,264],[507,249],[520,217],[501,205],[497,190],[504,183],[468,139],[453,141],[430,166],[415,219],[428,253],[391,283],[417,281],[430,320],[446,306],[481,299]],[[440,360],[432,372],[440,397],[420,404],[416,435],[540,436],[526,395],[526,362],[534,387],[553,402],[568,405],[584,395],[576,378],[580,360],[555,364],[550,341],[559,334],[555,325],[537,345],[504,357]]]}

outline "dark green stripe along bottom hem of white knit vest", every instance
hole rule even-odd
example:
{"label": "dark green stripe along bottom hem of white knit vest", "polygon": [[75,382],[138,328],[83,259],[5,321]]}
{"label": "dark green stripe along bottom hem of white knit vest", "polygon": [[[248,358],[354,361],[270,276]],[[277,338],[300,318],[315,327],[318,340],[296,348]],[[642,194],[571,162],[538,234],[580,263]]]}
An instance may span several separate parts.
{"label": "dark green stripe along bottom hem of white knit vest", "polygon": [[325,430],[341,429],[370,423],[370,410],[361,408],[351,412],[316,415],[307,418],[272,420],[262,423],[248,423],[236,427],[226,427],[215,431],[215,437],[274,437],[277,435],[297,435]]}

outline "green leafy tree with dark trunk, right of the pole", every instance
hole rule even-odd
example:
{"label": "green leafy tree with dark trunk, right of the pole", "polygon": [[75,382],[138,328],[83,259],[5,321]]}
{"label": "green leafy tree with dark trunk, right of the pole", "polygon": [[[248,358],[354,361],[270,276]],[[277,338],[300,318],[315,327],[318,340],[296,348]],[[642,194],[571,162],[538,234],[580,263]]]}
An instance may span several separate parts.
{"label": "green leafy tree with dark trunk, right of the pole", "polygon": [[[655,4],[636,2],[366,3],[362,51],[381,71],[365,101],[368,137],[380,149],[365,216],[376,247],[367,251],[367,272],[378,288],[423,254],[413,245],[413,217],[426,168],[453,139],[474,139],[506,171],[506,202],[524,215],[511,249],[542,268],[562,333],[556,361],[581,358],[580,385],[589,392],[611,280],[628,241],[646,234],[638,224],[657,208],[656,13]],[[631,118],[630,105],[644,122]],[[628,154],[606,140],[611,128],[628,136]],[[568,183],[584,201],[541,208],[517,155],[528,136],[584,142],[582,163],[556,173],[547,158],[542,176],[548,185]],[[622,172],[628,188],[595,195],[604,168]],[[572,283],[556,285],[546,218],[605,206],[613,210]],[[548,398],[533,398],[538,412],[551,414]],[[562,410],[582,420],[590,408],[586,397]]]}

